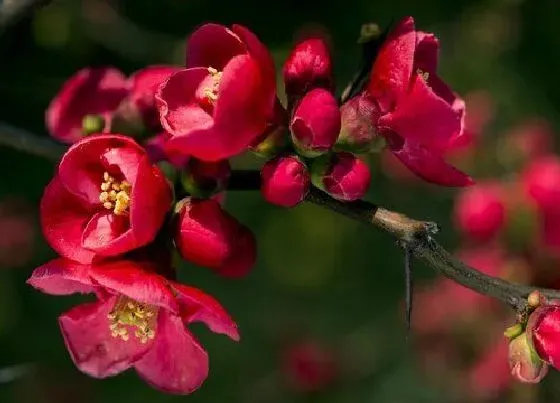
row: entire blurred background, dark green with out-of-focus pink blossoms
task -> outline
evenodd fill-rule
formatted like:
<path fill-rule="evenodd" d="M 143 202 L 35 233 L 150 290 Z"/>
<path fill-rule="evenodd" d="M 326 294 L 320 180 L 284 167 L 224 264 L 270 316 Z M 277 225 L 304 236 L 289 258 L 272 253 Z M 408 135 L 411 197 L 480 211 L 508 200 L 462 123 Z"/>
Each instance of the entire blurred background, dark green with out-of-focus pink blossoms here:
<path fill-rule="evenodd" d="M 386 27 L 406 15 L 440 37 L 440 75 L 465 96 L 469 110 L 469 141 L 449 158 L 481 185 L 469 192 L 424 185 L 389 155 L 372 155 L 368 199 L 437 221 L 442 243 L 480 270 L 560 284 L 560 220 L 531 201 L 526 174 L 536 170 L 531 178 L 538 179 L 549 172 L 534 166 L 543 158 L 558 163 L 547 157 L 560 123 L 556 0 L 55 0 L 0 32 L 0 121 L 47 136 L 44 111 L 76 70 L 180 65 L 186 35 L 207 21 L 247 25 L 278 67 L 299 33 L 323 32 L 342 89 L 359 61 L 361 24 Z M 258 163 L 249 156 L 235 166 Z M 394 241 L 313 205 L 267 205 L 258 192 L 230 193 L 226 202 L 259 241 L 258 264 L 248 277 L 232 281 L 179 267 L 180 278 L 214 295 L 241 329 L 236 344 L 195 328 L 211 360 L 203 387 L 174 397 L 132 371 L 90 379 L 74 368 L 56 320 L 82 298 L 50 297 L 25 284 L 54 256 L 38 227 L 53 168 L 0 148 L 2 403 L 529 403 L 560 396 L 557 373 L 538 386 L 510 379 L 502 332 L 512 317 L 504 307 L 417 264 L 407 341 L 403 257 Z M 558 177 L 551 180 L 560 186 Z"/>

